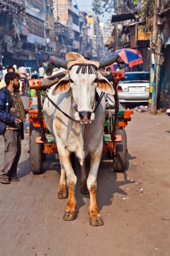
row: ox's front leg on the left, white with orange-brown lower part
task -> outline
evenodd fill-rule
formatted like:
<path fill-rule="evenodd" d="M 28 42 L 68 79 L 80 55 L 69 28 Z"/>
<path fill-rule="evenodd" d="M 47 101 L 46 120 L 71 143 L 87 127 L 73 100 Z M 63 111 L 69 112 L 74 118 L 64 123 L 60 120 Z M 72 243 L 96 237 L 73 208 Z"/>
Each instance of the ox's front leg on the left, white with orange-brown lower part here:
<path fill-rule="evenodd" d="M 75 200 L 75 185 L 77 183 L 77 177 L 75 176 L 75 172 L 71 165 L 70 153 L 63 149 L 59 152 L 60 161 L 65 168 L 66 176 L 67 176 L 67 186 L 69 188 L 69 197 L 67 201 L 67 207 L 65 210 L 65 214 L 63 216 L 63 220 L 75 220 L 77 217 L 75 212 L 76 200 Z"/>

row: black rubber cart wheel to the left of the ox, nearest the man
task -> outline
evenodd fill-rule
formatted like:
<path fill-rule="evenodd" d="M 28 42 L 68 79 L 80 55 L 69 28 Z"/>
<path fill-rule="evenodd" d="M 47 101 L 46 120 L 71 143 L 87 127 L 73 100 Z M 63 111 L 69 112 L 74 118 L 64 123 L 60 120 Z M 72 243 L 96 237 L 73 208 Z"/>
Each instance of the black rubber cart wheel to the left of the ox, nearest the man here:
<path fill-rule="evenodd" d="M 35 142 L 39 136 L 40 132 L 34 130 L 30 137 L 30 167 L 34 174 L 41 174 L 43 166 L 42 144 Z"/>

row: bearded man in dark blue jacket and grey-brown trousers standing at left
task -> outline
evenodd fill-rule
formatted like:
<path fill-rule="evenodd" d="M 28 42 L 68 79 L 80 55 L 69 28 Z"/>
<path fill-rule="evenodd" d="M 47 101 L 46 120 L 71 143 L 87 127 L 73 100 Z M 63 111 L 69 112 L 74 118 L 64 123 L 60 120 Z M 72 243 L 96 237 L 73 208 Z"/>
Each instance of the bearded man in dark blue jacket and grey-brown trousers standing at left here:
<path fill-rule="evenodd" d="M 28 109 L 24 110 L 19 96 L 19 75 L 7 73 L 5 86 L 0 90 L 0 135 L 5 139 L 4 167 L 0 173 L 0 182 L 9 184 L 19 181 L 17 178 L 17 164 L 21 155 L 22 123 Z"/>

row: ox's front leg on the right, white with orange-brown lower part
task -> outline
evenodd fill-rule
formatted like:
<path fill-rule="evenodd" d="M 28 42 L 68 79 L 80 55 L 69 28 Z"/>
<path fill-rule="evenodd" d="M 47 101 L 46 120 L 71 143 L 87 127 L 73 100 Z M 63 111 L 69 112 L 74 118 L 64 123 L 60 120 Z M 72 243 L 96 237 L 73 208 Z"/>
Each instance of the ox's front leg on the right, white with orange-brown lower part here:
<path fill-rule="evenodd" d="M 97 189 L 97 172 L 99 168 L 99 162 L 101 160 L 102 152 L 97 151 L 91 154 L 91 167 L 89 177 L 87 179 L 87 188 L 90 193 L 90 205 L 89 205 L 89 224 L 91 226 L 102 226 L 103 220 L 99 214 L 99 208 L 96 202 L 96 189 Z"/>

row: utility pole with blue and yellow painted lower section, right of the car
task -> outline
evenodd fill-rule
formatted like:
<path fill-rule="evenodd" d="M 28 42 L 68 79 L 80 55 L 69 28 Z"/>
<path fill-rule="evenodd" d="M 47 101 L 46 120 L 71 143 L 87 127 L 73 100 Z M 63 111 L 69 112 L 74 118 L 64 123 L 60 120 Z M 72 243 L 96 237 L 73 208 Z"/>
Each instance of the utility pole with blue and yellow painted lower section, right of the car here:
<path fill-rule="evenodd" d="M 162 3 L 163 4 L 163 3 Z M 159 79 L 163 56 L 161 54 L 161 24 L 159 23 L 159 13 L 161 11 L 161 1 L 155 0 L 153 11 L 153 35 L 151 42 L 151 79 L 149 87 L 148 106 L 152 114 L 157 113 L 157 99 L 159 94 Z"/>

